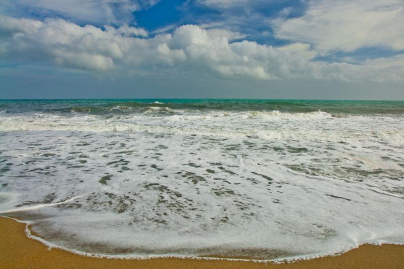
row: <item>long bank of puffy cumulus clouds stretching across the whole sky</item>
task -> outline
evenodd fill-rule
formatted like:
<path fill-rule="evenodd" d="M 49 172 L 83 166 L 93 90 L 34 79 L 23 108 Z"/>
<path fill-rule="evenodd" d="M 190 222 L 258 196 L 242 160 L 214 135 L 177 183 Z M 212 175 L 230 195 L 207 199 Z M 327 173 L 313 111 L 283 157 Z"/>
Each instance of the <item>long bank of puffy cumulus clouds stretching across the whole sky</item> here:
<path fill-rule="evenodd" d="M 94 72 L 170 69 L 208 72 L 227 78 L 402 80 L 402 56 L 361 65 L 313 61 L 307 43 L 282 47 L 254 41 L 231 42 L 228 33 L 196 25 L 148 37 L 141 28 L 79 26 L 62 19 L 44 21 L 0 17 L 0 58 L 45 61 Z M 393 70 L 393 72 L 392 72 Z"/>

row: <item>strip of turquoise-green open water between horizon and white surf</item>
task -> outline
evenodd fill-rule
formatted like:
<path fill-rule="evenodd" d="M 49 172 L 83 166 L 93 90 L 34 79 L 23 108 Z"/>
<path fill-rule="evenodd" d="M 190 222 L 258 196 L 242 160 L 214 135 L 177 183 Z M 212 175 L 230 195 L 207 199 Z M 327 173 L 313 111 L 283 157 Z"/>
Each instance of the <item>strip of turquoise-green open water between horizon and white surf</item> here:
<path fill-rule="evenodd" d="M 401 114 L 404 101 L 271 100 L 271 99 L 35 99 L 0 100 L 3 113 L 136 113 L 143 107 L 170 109 L 313 112 L 343 114 Z M 127 110 L 114 107 L 126 107 Z"/>

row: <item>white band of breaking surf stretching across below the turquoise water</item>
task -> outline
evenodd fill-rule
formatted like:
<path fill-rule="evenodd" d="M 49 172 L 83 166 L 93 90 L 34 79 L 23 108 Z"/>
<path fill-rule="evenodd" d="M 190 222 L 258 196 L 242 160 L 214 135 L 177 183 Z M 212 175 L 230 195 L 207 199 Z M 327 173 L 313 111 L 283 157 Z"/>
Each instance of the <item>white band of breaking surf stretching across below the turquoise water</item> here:
<path fill-rule="evenodd" d="M 149 107 L 151 111 L 162 107 Z M 169 112 L 170 109 L 166 108 Z M 387 117 L 332 118 L 330 114 L 259 113 L 262 117 L 245 118 L 244 114 L 211 113 L 149 117 L 131 115 L 65 117 L 35 114 L 33 116 L 0 117 L 0 131 L 130 131 L 172 134 L 196 134 L 223 137 L 256 137 L 266 140 L 297 139 L 302 141 L 380 142 L 401 145 L 404 130 L 400 119 Z M 270 115 L 270 116 L 268 116 Z M 276 123 L 267 122 L 268 117 Z M 284 119 L 284 120 L 282 120 Z M 311 123 L 306 121 L 312 120 Z M 304 125 L 301 125 L 304 121 Z M 388 125 L 384 128 L 384 125 Z M 341 128 L 342 127 L 342 128 Z M 381 128 L 383 127 L 383 128 Z"/>

